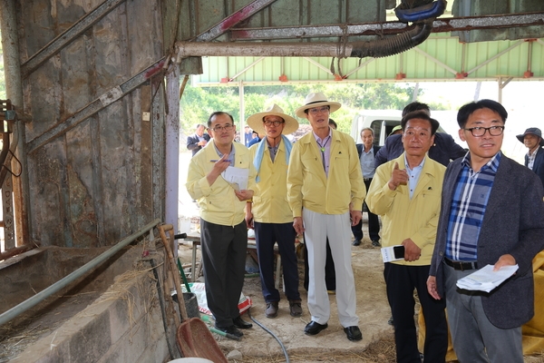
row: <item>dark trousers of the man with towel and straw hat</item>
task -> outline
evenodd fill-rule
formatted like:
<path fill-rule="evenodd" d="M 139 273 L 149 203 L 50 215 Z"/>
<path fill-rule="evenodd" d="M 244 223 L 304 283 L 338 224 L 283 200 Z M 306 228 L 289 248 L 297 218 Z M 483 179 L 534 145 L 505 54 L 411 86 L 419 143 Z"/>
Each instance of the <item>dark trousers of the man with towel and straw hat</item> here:
<path fill-rule="evenodd" d="M 274 244 L 276 242 L 283 265 L 287 299 L 299 300 L 295 251 L 296 231 L 293 228 L 293 223 L 260 223 L 256 221 L 254 225 L 261 288 L 265 301 L 274 302 L 280 299 L 279 291 L 274 286 Z"/>

